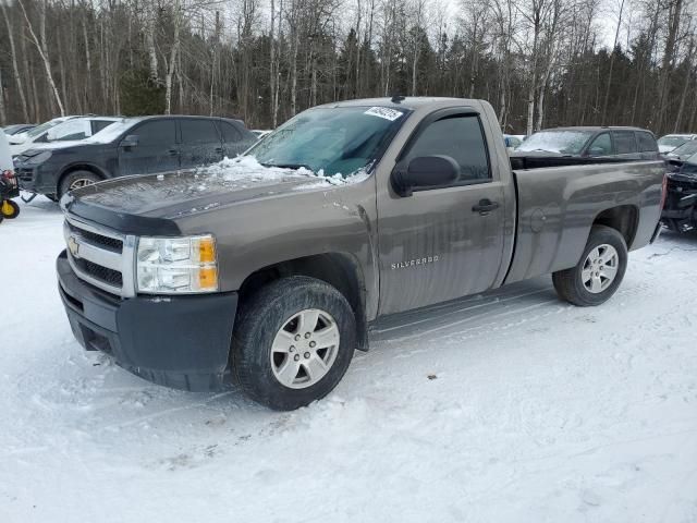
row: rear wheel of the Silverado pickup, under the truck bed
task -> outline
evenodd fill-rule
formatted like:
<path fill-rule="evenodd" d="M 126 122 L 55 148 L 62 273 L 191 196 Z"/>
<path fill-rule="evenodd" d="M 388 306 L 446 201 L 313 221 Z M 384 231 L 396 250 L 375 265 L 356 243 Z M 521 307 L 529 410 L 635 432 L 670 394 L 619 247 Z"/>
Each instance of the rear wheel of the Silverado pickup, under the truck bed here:
<path fill-rule="evenodd" d="M 552 282 L 559 297 L 589 307 L 607 302 L 615 293 L 626 269 L 624 236 L 611 227 L 594 226 L 578 265 L 554 272 Z"/>

